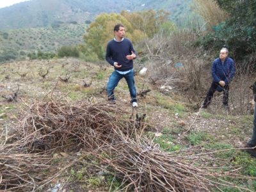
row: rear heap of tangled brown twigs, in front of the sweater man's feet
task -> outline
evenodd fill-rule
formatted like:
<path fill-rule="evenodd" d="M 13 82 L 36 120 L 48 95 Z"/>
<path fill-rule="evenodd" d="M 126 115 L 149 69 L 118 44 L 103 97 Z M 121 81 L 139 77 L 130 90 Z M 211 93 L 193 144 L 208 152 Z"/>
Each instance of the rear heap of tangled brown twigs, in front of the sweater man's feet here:
<path fill-rule="evenodd" d="M 132 134 L 134 120 L 124 120 L 120 106 L 88 102 L 36 102 L 22 118 L 12 136 L 12 148 L 40 152 L 76 144 L 95 149 L 116 140 L 115 129 Z"/>

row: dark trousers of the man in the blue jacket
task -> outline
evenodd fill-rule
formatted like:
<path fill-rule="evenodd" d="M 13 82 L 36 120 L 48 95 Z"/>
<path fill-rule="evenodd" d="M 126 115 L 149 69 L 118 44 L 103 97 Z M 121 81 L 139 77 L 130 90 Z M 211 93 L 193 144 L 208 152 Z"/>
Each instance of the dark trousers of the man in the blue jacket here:
<path fill-rule="evenodd" d="M 229 91 L 229 84 L 225 84 L 225 86 L 221 86 L 219 83 L 216 83 L 212 81 L 211 87 L 209 91 L 207 92 L 207 95 L 205 97 L 203 106 L 207 107 L 212 99 L 212 96 L 214 92 L 216 92 L 217 88 L 221 91 L 223 91 L 223 105 L 227 106 L 228 105 L 228 91 Z"/>

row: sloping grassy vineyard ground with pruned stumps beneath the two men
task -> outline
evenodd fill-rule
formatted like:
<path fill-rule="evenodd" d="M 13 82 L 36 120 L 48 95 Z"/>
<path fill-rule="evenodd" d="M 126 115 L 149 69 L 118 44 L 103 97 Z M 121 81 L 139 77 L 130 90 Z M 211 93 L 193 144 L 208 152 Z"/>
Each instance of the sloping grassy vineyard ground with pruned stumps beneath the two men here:
<path fill-rule="evenodd" d="M 45 74 L 47 70 L 49 73 L 45 78 L 39 75 L 40 72 L 41 74 Z M 48 61 L 20 61 L 1 65 L 1 96 L 8 97 L 8 95 L 17 92 L 17 98 L 13 102 L 8 102 L 3 97 L 0 98 L 0 143 L 3 143 L 1 150 L 3 153 L 8 150 L 8 154 L 4 153 L 4 155 L 0 157 L 0 159 L 4 159 L 6 164 L 6 166 L 1 166 L 0 168 L 1 173 L 3 173 L 3 183 L 0 183 L 0 189 L 3 189 L 5 187 L 4 183 L 8 182 L 6 178 L 12 177 L 13 180 L 19 180 L 17 175 L 20 174 L 20 170 L 18 170 L 18 168 L 26 168 L 29 164 L 29 166 L 33 166 L 38 172 L 35 172 L 34 169 L 31 170 L 31 172 L 29 172 L 29 169 L 23 169 L 22 173 L 31 174 L 31 177 L 26 177 L 26 174 L 20 175 L 20 178 L 27 179 L 22 180 L 22 182 L 28 182 L 26 186 L 17 186 L 22 189 L 24 189 L 24 187 L 29 188 L 31 183 L 36 182 L 36 184 L 40 184 L 43 191 L 54 188 L 67 191 L 109 191 L 109 189 L 115 191 L 118 189 L 118 186 L 122 184 L 122 179 L 127 177 L 132 180 L 129 175 L 126 175 L 126 177 L 122 174 L 119 175 L 122 171 L 120 170 L 121 166 L 128 164 L 129 166 L 125 171 L 136 172 L 134 177 L 139 175 L 139 179 L 145 179 L 146 181 L 143 180 L 143 183 L 140 184 L 146 184 L 146 186 L 148 184 L 147 179 L 150 179 L 150 177 L 156 178 L 156 175 L 158 175 L 157 178 L 161 178 L 165 175 L 166 178 L 168 177 L 168 179 L 172 181 L 173 179 L 170 178 L 172 177 L 171 173 L 175 172 L 174 174 L 177 176 L 186 172 L 179 180 L 187 179 L 189 176 L 188 180 L 184 182 L 184 186 L 188 189 L 191 178 L 193 177 L 191 174 L 193 170 L 189 169 L 196 168 L 195 174 L 202 174 L 200 175 L 200 184 L 204 179 L 211 180 L 212 177 L 216 179 L 213 180 L 216 182 L 214 185 L 209 184 L 209 180 L 207 180 L 206 183 L 208 184 L 205 188 L 209 189 L 209 191 L 219 191 L 219 189 L 221 191 L 236 191 L 238 190 L 237 188 L 240 188 L 242 191 L 245 190 L 245 188 L 255 191 L 255 161 L 252 157 L 248 156 L 248 154 L 236 149 L 243 147 L 244 142 L 250 137 L 252 131 L 252 116 L 239 115 L 236 113 L 236 109 L 239 107 L 238 102 L 232 102 L 230 112 L 225 111 L 219 106 L 221 104 L 221 97 L 217 94 L 209 109 L 198 109 L 196 108 L 196 103 L 191 103 L 186 99 L 186 94 L 188 93 L 180 92 L 180 90 L 176 90 L 175 87 L 163 88 L 160 83 L 154 85 L 150 84 L 147 76 L 135 76 L 139 108 L 131 108 L 129 104 L 129 90 L 124 79 L 120 81 L 120 84 L 118 84 L 116 88 L 117 104 L 109 106 L 106 101 L 104 88 L 112 70 L 113 68 L 106 65 L 106 63 L 87 63 L 72 58 Z M 58 81 L 60 77 L 61 79 L 67 79 L 67 82 Z M 239 79 L 237 78 L 234 84 L 238 84 L 238 81 Z M 147 89 L 151 91 L 143 97 L 140 96 L 140 93 Z M 232 87 L 232 92 L 230 93 L 232 100 L 234 93 L 238 90 L 239 87 Z M 49 102 L 47 100 L 49 100 Z M 61 102 L 61 100 L 63 100 L 63 102 Z M 83 106 L 84 108 L 67 107 L 79 104 L 79 101 L 82 101 L 83 104 L 88 102 L 88 105 Z M 52 139 L 54 132 L 58 131 L 59 128 L 55 125 L 52 125 L 52 127 L 47 125 L 51 120 L 51 116 L 43 118 L 47 113 L 57 113 L 58 115 L 61 112 L 61 114 L 65 114 L 62 110 L 67 110 L 67 118 L 70 118 L 69 122 L 72 122 L 73 118 L 79 118 L 79 115 L 76 116 L 77 109 L 84 111 L 89 108 L 97 112 L 93 113 L 93 116 L 90 118 L 90 120 L 94 121 L 99 120 L 98 123 L 93 124 L 94 127 L 103 124 L 103 127 L 100 128 L 102 128 L 103 131 L 106 129 L 109 130 L 109 127 L 111 127 L 109 125 L 115 127 L 116 124 L 118 124 L 121 126 L 120 121 L 124 120 L 125 125 L 127 125 L 127 129 L 125 128 L 126 131 L 129 125 L 131 125 L 130 122 L 133 122 L 132 124 L 137 127 L 132 133 L 132 135 L 138 136 L 136 141 L 140 141 L 142 136 L 150 138 L 150 144 L 146 146 L 145 142 L 147 141 L 141 140 L 140 145 L 137 145 L 135 141 L 128 143 L 129 147 L 126 147 L 127 143 L 125 143 L 128 141 L 131 142 L 127 132 L 125 132 L 124 138 L 122 138 L 124 139 L 123 142 L 115 143 L 114 138 L 104 140 L 105 143 L 110 140 L 113 149 L 115 149 L 115 145 L 120 147 L 120 151 L 116 151 L 117 154 L 124 150 L 123 147 L 125 147 L 125 150 L 131 150 L 130 152 L 134 152 L 132 147 L 135 147 L 138 154 L 134 156 L 134 163 L 126 162 L 118 164 L 115 170 L 114 163 L 122 162 L 122 159 L 126 159 L 127 161 L 127 157 L 131 157 L 132 161 L 133 153 L 126 154 L 122 156 L 122 158 L 119 157 L 120 159 L 118 159 L 118 161 L 116 160 L 118 156 L 115 155 L 113 159 L 108 159 L 112 156 L 111 153 L 108 154 L 108 152 L 111 151 L 109 145 L 105 152 L 101 151 L 104 147 L 99 147 L 97 150 L 93 150 L 92 154 L 89 153 L 88 150 L 92 146 L 85 145 L 89 140 L 85 140 L 83 136 L 85 137 L 86 134 L 93 134 L 94 136 L 96 131 L 99 130 L 95 129 L 95 132 L 86 131 L 89 130 L 90 127 L 89 125 L 85 128 L 80 126 L 83 119 L 81 119 L 81 122 L 74 122 L 74 126 L 79 125 L 79 129 L 75 132 L 72 132 L 71 128 L 65 130 L 63 127 L 60 127 L 62 133 L 58 132 L 58 134 L 63 134 L 63 137 L 61 137 L 60 140 Z M 33 109 L 35 109 L 35 111 L 33 111 Z M 51 111 L 50 109 L 54 110 Z M 99 111 L 97 111 L 98 109 Z M 105 109 L 110 111 L 105 112 Z M 30 112 L 28 113 L 28 111 Z M 120 111 L 124 113 L 120 114 Z M 33 140 L 33 137 L 29 137 L 29 134 L 26 139 L 23 140 L 22 138 L 22 140 L 19 141 L 21 143 L 12 143 L 13 140 L 15 141 L 15 138 L 8 138 L 8 134 L 14 133 L 17 134 L 16 136 L 19 136 L 18 133 L 26 133 L 28 130 L 25 129 L 26 131 L 24 131 L 24 127 L 26 128 L 28 124 L 33 125 L 31 119 L 33 119 L 35 114 L 33 115 L 32 112 L 38 113 L 38 117 L 35 118 L 35 120 L 44 120 L 46 127 L 42 129 L 40 127 L 44 126 L 43 124 L 34 124 L 34 136 L 37 138 L 34 138 L 35 143 L 26 143 L 29 140 Z M 29 117 L 30 113 L 32 115 L 31 117 Z M 81 113 L 81 115 L 82 114 L 83 113 Z M 86 114 L 87 113 L 84 113 L 85 116 Z M 140 122 L 136 114 L 138 114 L 139 117 L 145 114 L 146 119 Z M 24 118 L 28 118 L 27 124 L 23 124 Z M 106 121 L 105 118 L 112 118 L 111 122 Z M 53 120 L 59 120 L 58 123 L 61 125 L 68 125 L 67 123 L 65 124 L 67 120 L 63 118 L 63 116 L 58 116 L 58 118 L 54 117 Z M 106 126 L 106 124 L 108 126 Z M 138 124 L 140 124 L 140 127 L 138 127 Z M 16 127 L 19 131 L 12 132 L 12 127 Z M 50 128 L 55 129 L 55 131 L 51 134 L 47 134 Z M 118 127 L 116 127 L 116 130 L 117 128 Z M 76 134 L 81 134 L 79 131 L 83 130 L 86 134 L 79 137 L 79 140 L 81 140 L 79 143 L 76 139 Z M 36 134 L 36 132 L 38 134 Z M 45 135 L 43 135 L 44 132 L 46 132 Z M 65 133 L 68 134 L 69 132 L 71 135 L 67 138 L 64 137 Z M 31 132 L 31 134 L 34 133 Z M 108 135 L 109 132 L 104 131 L 104 134 Z M 111 139 L 113 139 L 113 141 Z M 40 140 L 44 142 L 52 141 L 52 148 L 44 142 L 40 143 Z M 56 147 L 54 145 L 54 143 L 61 143 L 61 141 L 64 142 L 61 146 Z M 78 143 L 74 143 L 74 141 Z M 102 140 L 99 140 L 99 142 L 100 141 Z M 33 153 L 33 151 L 29 153 L 29 146 L 31 145 L 33 150 L 36 150 L 38 147 L 37 150 L 43 150 L 43 153 L 38 154 Z M 26 151 L 28 156 L 24 156 L 24 154 L 19 154 L 19 158 L 16 155 L 10 156 L 12 152 L 17 153 L 19 150 L 22 152 Z M 99 154 L 97 154 L 98 150 Z M 41 156 L 41 158 L 38 156 Z M 157 159 L 159 156 L 161 157 L 160 160 Z M 25 158 L 24 162 L 22 162 L 23 157 Z M 170 157 L 168 161 L 165 159 L 167 157 Z M 51 159 L 49 160 L 47 158 Z M 144 161 L 140 160 L 142 158 Z M 148 158 L 151 158 L 149 159 L 150 161 Z M 40 166 L 40 163 L 45 163 L 45 159 L 48 163 L 47 166 L 38 168 L 37 166 Z M 26 164 L 27 161 L 29 162 L 28 164 Z M 34 161 L 36 161 L 36 163 L 31 163 Z M 171 164 L 171 166 L 168 167 L 170 170 L 168 170 L 168 172 L 164 171 L 164 168 L 166 168 L 170 161 L 171 163 L 177 163 L 176 166 Z M 142 165 L 140 165 L 141 162 L 143 162 Z M 8 166 L 9 163 L 12 163 L 12 172 Z M 22 164 L 22 166 L 17 166 L 17 163 L 19 165 Z M 161 163 L 163 163 L 163 166 L 160 167 L 160 170 L 162 170 L 163 173 L 159 175 L 154 171 Z M 155 166 L 152 166 L 152 164 Z M 186 166 L 186 164 L 188 166 Z M 139 166 L 138 170 L 136 169 L 137 166 Z M 177 166 L 179 167 L 177 168 Z M 113 168 L 112 172 L 107 171 L 109 167 Z M 132 168 L 132 170 L 129 170 L 129 168 Z M 147 174 L 146 170 L 148 168 L 152 168 L 152 173 Z M 175 168 L 177 168 L 176 171 L 173 170 Z M 204 170 L 204 168 L 209 168 L 209 172 L 201 172 L 201 169 Z M 10 173 L 16 173 L 17 175 Z M 40 177 L 36 176 L 36 174 L 40 175 Z M 207 176 L 205 176 L 205 174 L 207 174 Z M 231 178 L 230 174 L 232 175 Z M 32 177 L 34 176 L 36 179 L 33 180 Z M 44 182 L 39 182 L 38 178 L 41 178 Z M 227 182 L 222 182 L 220 178 L 227 180 Z M 123 183 L 122 188 L 129 182 L 134 184 L 134 186 L 136 185 L 136 182 L 132 182 L 128 179 L 125 180 L 125 184 Z M 31 180 L 31 183 L 29 183 L 29 180 Z M 198 182 L 197 175 L 195 182 Z M 198 188 L 195 182 L 193 182 L 192 186 Z M 150 184 L 154 183 L 157 183 L 157 180 L 150 182 Z M 163 185 L 165 180 L 160 180 L 159 183 L 161 184 L 160 186 L 166 186 Z M 220 183 L 224 184 L 224 186 Z M 38 185 L 36 184 L 35 186 L 32 185 L 30 189 L 37 188 Z M 129 188 L 127 191 L 134 190 Z"/>

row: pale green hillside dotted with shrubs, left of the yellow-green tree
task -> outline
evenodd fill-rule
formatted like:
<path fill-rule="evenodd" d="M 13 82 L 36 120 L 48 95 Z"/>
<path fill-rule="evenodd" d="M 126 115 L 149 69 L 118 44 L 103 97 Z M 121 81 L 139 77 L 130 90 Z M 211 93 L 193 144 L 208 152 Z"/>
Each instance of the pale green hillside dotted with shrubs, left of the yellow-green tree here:
<path fill-rule="evenodd" d="M 0 62 L 26 58 L 35 51 L 56 52 L 62 45 L 83 44 L 86 24 L 0 31 Z"/>

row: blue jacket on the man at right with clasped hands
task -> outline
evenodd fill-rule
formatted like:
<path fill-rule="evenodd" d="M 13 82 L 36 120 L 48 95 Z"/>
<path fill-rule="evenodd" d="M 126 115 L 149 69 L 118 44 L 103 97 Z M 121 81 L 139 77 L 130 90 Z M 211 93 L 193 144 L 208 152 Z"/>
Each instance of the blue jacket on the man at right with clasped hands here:
<path fill-rule="evenodd" d="M 220 58 L 217 58 L 212 62 L 211 72 L 214 82 L 225 81 L 225 84 L 230 83 L 236 72 L 234 60 L 227 57 L 222 64 Z"/>

